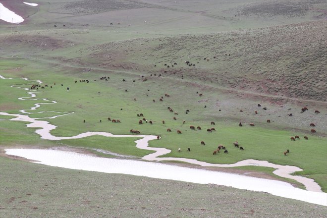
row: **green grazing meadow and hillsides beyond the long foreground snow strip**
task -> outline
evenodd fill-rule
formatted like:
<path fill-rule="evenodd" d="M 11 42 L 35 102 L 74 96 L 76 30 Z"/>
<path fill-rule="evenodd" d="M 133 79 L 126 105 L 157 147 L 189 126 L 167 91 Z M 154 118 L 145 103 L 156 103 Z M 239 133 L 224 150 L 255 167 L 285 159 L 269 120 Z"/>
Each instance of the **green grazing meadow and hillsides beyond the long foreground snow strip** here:
<path fill-rule="evenodd" d="M 326 192 L 326 2 L 294 0 L 292 7 L 284 0 L 35 3 L 39 6 L 3 2 L 17 8 L 26 21 L 12 27 L 0 20 L 0 75 L 15 77 L 0 79 L 1 112 L 19 113 L 45 103 L 42 99 L 46 98 L 57 103 L 41 105 L 30 117 L 58 114 L 51 111 L 73 112 L 42 118 L 57 126 L 51 132 L 55 136 L 87 131 L 130 134 L 136 129 L 141 134 L 159 135 L 161 139 L 151 141 L 150 146 L 170 149 L 165 157 L 209 163 L 256 159 L 296 165 L 303 171 L 295 174 L 315 179 Z M 285 8 L 292 10 L 286 12 Z M 108 81 L 101 79 L 104 76 Z M 21 78 L 48 85 L 35 90 L 41 100 L 18 100 L 30 95 L 15 87 L 37 84 Z M 178 114 L 169 112 L 168 107 Z M 301 112 L 303 107 L 309 110 Z M 40 111 L 46 112 L 37 113 Z M 143 118 L 137 116 L 140 113 L 148 123 L 138 123 Z M 112 123 L 108 117 L 121 123 Z M 151 153 L 135 148 L 137 137 L 43 140 L 34 129 L 25 128 L 25 123 L 10 118 L 0 116 L 2 150 L 78 147 L 104 157 L 112 156 L 94 149 L 132 158 Z M 310 123 L 316 124 L 317 133 L 311 133 Z M 201 126 L 201 130 L 191 130 L 190 125 Z M 212 127 L 216 131 L 207 132 Z M 177 129 L 182 134 L 177 134 Z M 300 140 L 291 141 L 295 135 Z M 235 141 L 244 151 L 233 147 Z M 228 154 L 213 155 L 220 144 Z M 290 153 L 284 156 L 287 149 Z M 273 175 L 271 168 L 238 169 L 266 173 L 302 187 Z"/>

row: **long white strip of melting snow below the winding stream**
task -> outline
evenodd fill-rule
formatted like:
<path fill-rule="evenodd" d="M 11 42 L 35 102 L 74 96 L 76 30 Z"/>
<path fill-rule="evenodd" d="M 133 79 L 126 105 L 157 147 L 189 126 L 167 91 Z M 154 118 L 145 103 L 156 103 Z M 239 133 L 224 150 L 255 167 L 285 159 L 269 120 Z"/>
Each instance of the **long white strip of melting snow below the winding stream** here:
<path fill-rule="evenodd" d="M 93 157 L 74 152 L 44 149 L 6 149 L 6 154 L 35 160 L 45 165 L 107 173 L 122 173 L 200 184 L 213 183 L 327 206 L 327 193 L 306 191 L 263 178 L 173 166 L 163 163 Z"/>

